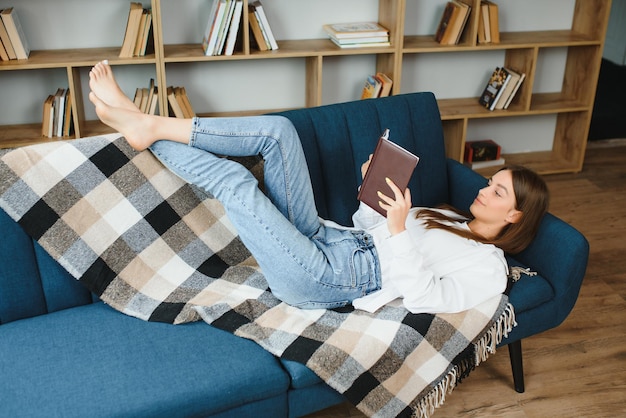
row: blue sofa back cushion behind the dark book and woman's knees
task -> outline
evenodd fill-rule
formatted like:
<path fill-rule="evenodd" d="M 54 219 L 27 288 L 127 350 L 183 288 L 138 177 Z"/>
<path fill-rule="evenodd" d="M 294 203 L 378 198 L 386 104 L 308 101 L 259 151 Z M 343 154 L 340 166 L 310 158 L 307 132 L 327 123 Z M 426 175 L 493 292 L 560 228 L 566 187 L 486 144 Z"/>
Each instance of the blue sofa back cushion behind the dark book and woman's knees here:
<path fill-rule="evenodd" d="M 432 93 L 401 94 L 278 113 L 296 127 L 319 215 L 351 225 L 361 164 L 380 134 L 420 157 L 409 188 L 413 205 L 449 203 L 443 129 Z"/>

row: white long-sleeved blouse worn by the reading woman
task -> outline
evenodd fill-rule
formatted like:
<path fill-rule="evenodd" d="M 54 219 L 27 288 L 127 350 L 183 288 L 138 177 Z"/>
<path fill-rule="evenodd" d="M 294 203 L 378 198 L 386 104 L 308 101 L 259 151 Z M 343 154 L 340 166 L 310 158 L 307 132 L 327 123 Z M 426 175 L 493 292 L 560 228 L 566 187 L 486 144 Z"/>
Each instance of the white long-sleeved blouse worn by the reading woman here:
<path fill-rule="evenodd" d="M 411 209 L 406 231 L 394 236 L 386 218 L 367 205 L 353 215 L 355 228 L 372 235 L 382 272 L 382 288 L 354 300 L 355 308 L 374 312 L 399 298 L 413 313 L 453 313 L 504 292 L 508 266 L 500 248 L 426 229 L 417 210 Z M 469 229 L 464 219 L 457 226 Z"/>

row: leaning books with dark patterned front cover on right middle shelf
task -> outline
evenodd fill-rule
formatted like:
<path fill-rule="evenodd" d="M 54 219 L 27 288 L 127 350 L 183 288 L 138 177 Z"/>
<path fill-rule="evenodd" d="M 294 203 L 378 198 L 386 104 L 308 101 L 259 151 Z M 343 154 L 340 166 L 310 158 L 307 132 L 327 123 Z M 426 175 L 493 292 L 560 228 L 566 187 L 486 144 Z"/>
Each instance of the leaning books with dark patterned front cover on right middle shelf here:
<path fill-rule="evenodd" d="M 507 67 L 496 67 L 478 98 L 478 103 L 489 110 L 508 109 L 525 78 L 526 73 L 518 73 Z"/>

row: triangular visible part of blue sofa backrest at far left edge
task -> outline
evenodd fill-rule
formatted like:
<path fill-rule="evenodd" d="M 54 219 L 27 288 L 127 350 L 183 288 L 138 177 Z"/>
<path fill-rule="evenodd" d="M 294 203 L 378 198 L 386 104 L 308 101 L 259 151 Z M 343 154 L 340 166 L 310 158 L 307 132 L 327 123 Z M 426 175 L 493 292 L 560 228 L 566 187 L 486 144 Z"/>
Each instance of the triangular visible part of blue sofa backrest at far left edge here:
<path fill-rule="evenodd" d="M 0 231 L 0 324 L 93 301 L 2 209 Z"/>

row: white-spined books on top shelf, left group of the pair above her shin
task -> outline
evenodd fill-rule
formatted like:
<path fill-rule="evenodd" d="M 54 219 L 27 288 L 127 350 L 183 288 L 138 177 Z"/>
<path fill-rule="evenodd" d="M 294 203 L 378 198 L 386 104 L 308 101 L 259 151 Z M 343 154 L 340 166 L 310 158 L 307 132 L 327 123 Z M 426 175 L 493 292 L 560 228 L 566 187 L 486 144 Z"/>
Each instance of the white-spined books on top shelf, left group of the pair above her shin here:
<path fill-rule="evenodd" d="M 242 15 L 242 0 L 213 1 L 202 37 L 202 49 L 205 55 L 233 54 Z"/>

